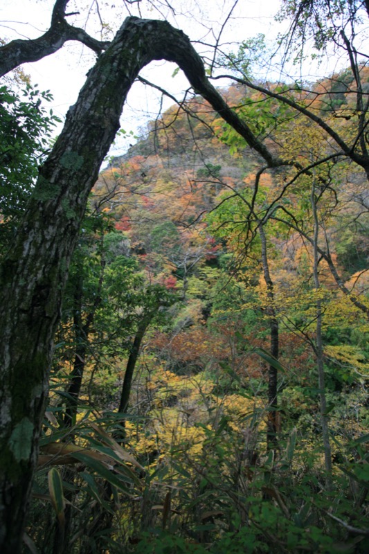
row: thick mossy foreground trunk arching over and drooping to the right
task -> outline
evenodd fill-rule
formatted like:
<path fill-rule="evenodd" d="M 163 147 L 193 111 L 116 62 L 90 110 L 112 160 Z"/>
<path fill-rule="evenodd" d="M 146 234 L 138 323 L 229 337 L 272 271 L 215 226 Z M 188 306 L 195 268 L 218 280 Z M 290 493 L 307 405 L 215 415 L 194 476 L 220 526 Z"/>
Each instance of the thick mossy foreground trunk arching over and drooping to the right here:
<path fill-rule="evenodd" d="M 64 2 L 64 5 L 66 3 Z M 4 55 L 4 53 L 3 53 Z M 64 129 L 39 169 L 15 242 L 0 268 L 0 551 L 19 552 L 48 391 L 53 336 L 71 254 L 98 170 L 139 71 L 165 59 L 259 152 L 277 162 L 208 82 L 181 30 L 129 17 L 89 71 Z"/>

